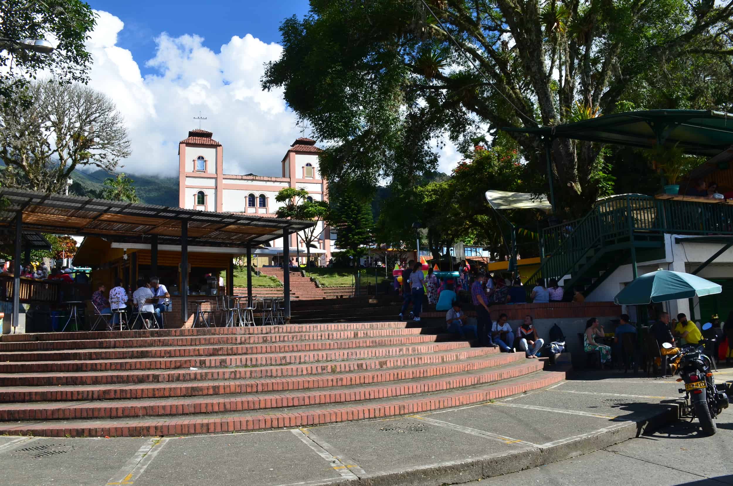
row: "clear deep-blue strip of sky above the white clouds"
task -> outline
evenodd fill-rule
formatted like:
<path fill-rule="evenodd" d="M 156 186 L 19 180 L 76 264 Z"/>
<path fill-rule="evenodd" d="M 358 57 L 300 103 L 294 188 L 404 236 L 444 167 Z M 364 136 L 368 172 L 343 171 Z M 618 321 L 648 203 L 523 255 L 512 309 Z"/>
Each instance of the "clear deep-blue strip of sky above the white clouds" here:
<path fill-rule="evenodd" d="M 153 72 L 144 61 L 155 56 L 155 37 L 196 34 L 214 52 L 232 35 L 251 34 L 264 43 L 279 43 L 278 28 L 290 15 L 308 11 L 308 0 L 87 0 L 95 10 L 105 10 L 125 22 L 117 46 L 132 52 L 141 73 Z M 142 62 L 141 62 L 142 61 Z"/>

